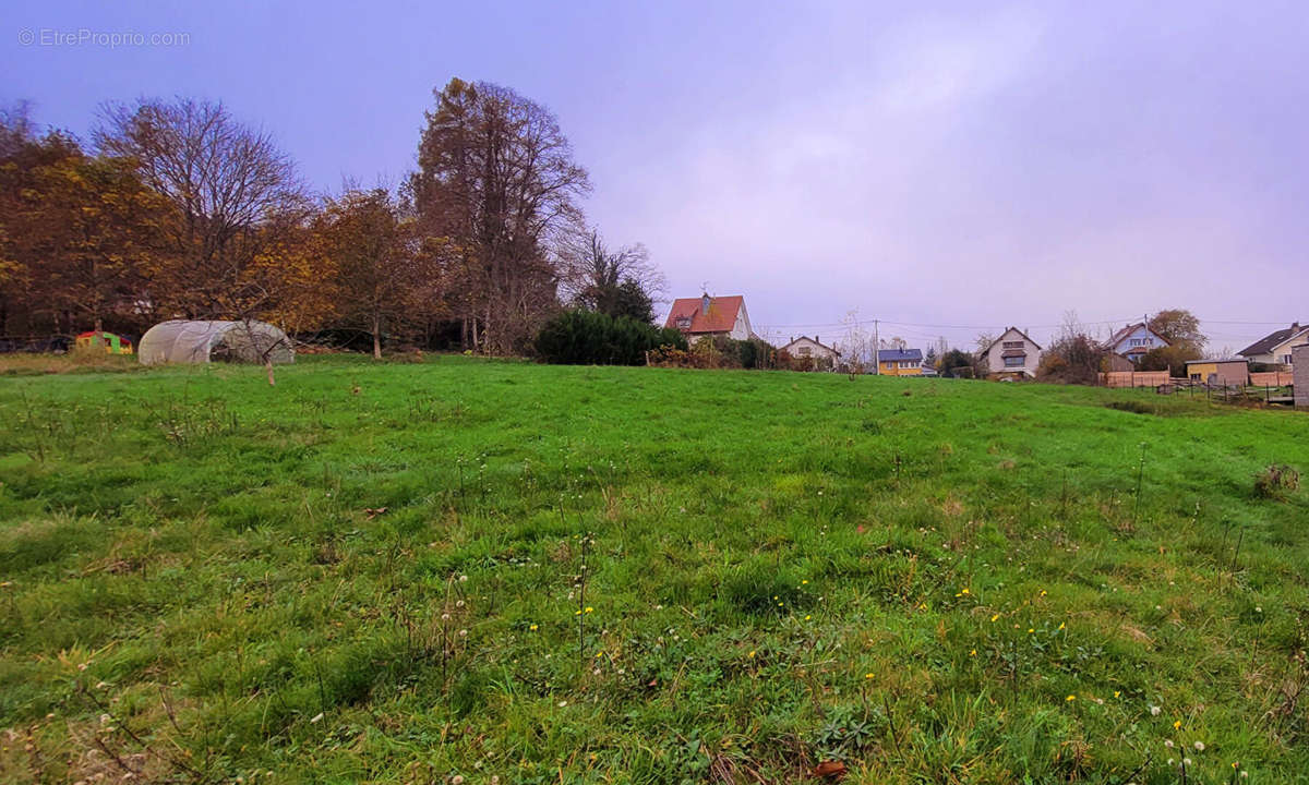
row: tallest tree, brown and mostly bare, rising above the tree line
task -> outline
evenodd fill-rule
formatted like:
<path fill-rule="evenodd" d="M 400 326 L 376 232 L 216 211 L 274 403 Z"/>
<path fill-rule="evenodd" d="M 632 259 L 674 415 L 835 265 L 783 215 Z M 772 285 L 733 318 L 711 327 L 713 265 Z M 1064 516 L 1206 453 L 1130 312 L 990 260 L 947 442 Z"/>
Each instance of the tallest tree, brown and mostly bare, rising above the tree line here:
<path fill-rule="evenodd" d="M 586 170 L 554 114 L 508 88 L 450 80 L 418 152 L 408 196 L 445 238 L 450 305 L 469 345 L 524 351 L 558 307 L 559 249 L 581 222 Z"/>

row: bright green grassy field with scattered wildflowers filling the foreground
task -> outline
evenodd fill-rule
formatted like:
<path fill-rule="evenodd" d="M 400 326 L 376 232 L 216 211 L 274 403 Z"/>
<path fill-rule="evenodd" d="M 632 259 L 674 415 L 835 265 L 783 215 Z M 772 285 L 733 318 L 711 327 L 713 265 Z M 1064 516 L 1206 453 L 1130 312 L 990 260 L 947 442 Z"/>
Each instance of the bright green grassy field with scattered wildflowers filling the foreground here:
<path fill-rule="evenodd" d="M 113 370 L 0 378 L 5 782 L 1309 782 L 1302 413 Z"/>

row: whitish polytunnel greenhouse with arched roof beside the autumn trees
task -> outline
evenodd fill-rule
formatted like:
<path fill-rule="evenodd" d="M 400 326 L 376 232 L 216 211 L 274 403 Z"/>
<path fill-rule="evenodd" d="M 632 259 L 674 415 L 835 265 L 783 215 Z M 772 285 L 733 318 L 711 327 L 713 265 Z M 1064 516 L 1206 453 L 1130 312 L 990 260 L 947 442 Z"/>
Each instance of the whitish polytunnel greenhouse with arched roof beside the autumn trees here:
<path fill-rule="evenodd" d="M 291 339 L 266 322 L 160 322 L 141 336 L 136 356 L 157 362 L 295 362 Z"/>

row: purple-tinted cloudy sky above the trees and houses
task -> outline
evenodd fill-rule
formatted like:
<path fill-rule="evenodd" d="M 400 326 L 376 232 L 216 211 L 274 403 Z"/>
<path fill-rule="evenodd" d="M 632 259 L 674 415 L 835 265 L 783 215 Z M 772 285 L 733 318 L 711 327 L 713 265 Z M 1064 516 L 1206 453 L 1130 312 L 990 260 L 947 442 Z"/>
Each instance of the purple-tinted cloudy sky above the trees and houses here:
<path fill-rule="evenodd" d="M 1289 3 L 13 3 L 0 101 L 221 98 L 306 181 L 395 183 L 452 76 L 551 107 L 590 218 L 673 296 L 923 345 L 1190 307 L 1309 319 L 1309 8 Z M 43 46 L 51 31 L 181 46 Z M 26 43 L 31 35 L 35 42 Z"/>

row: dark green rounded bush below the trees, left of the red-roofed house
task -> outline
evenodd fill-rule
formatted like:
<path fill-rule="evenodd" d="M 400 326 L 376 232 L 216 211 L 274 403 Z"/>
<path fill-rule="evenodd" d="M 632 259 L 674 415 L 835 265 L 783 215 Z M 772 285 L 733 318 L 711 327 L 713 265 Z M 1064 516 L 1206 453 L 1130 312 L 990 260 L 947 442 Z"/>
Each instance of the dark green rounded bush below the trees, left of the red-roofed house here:
<path fill-rule="evenodd" d="M 645 352 L 686 349 L 686 338 L 628 317 L 571 310 L 546 323 L 537 335 L 537 353 L 558 365 L 643 365 Z"/>

